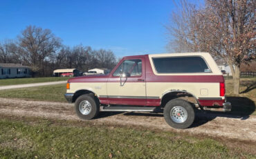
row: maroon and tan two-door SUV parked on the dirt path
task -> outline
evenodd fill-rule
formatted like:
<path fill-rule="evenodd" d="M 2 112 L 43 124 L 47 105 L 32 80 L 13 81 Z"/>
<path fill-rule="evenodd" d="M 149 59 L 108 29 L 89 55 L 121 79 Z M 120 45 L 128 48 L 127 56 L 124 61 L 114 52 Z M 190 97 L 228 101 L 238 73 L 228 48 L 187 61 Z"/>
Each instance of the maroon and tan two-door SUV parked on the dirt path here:
<path fill-rule="evenodd" d="M 230 111 L 221 71 L 209 53 L 123 57 L 109 75 L 68 79 L 66 100 L 78 117 L 99 111 L 163 111 L 171 127 L 194 122 L 194 109 Z"/>

